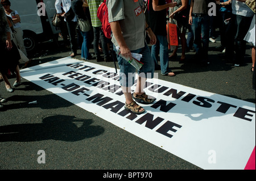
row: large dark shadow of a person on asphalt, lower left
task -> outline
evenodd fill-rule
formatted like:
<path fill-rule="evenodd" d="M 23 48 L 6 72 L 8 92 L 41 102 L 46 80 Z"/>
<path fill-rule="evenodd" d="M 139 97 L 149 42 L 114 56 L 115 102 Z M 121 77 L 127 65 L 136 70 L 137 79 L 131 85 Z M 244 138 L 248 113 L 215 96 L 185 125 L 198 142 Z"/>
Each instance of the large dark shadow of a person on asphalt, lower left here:
<path fill-rule="evenodd" d="M 80 141 L 85 138 L 99 136 L 105 129 L 91 125 L 91 119 L 77 119 L 75 116 L 51 115 L 42 123 L 13 124 L 0 127 L 0 142 L 18 141 Z"/>

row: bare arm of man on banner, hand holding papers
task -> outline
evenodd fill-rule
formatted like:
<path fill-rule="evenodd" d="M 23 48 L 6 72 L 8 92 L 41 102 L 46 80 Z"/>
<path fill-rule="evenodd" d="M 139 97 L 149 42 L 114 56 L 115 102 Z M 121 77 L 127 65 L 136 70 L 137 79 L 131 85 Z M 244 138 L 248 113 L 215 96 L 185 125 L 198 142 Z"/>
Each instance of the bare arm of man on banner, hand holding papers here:
<path fill-rule="evenodd" d="M 125 39 L 122 35 L 122 30 L 119 24 L 119 21 L 110 22 L 112 33 L 117 40 L 117 43 L 120 47 L 120 52 L 123 57 L 132 59 L 130 48 L 126 45 Z"/>

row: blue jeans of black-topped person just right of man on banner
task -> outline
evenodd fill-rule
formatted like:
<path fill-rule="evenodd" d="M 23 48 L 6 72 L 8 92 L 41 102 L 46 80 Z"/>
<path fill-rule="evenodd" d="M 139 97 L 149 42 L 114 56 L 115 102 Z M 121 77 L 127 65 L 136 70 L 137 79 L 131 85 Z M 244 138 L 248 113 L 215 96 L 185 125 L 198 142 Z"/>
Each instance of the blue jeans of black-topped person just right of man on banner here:
<path fill-rule="evenodd" d="M 169 58 L 168 58 L 168 41 L 166 36 L 156 35 L 156 44 L 152 45 L 151 56 L 155 62 L 155 65 L 158 65 L 158 54 L 160 56 L 160 67 L 161 74 L 166 75 L 171 72 L 169 69 Z"/>

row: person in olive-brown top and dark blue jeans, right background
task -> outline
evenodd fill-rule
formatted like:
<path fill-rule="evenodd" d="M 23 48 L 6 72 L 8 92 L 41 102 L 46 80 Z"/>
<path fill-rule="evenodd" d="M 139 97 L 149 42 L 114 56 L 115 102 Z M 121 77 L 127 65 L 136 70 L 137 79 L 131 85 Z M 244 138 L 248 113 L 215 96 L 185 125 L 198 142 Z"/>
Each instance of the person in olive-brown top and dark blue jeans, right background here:
<path fill-rule="evenodd" d="M 210 0 L 192 0 L 189 11 L 189 24 L 194 33 L 194 47 L 196 60 L 202 64 L 209 64 L 209 32 L 210 16 L 208 15 L 208 3 Z M 203 43 L 203 45 L 202 45 Z"/>

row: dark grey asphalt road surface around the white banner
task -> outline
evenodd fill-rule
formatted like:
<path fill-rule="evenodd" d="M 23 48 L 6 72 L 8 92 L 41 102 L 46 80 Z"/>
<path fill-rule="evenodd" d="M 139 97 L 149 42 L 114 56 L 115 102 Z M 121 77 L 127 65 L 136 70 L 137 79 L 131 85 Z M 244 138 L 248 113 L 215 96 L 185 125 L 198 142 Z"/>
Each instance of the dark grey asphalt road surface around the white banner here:
<path fill-rule="evenodd" d="M 192 59 L 195 53 L 188 52 L 185 62 L 170 60 L 175 77 L 162 76 L 156 70 L 159 79 L 255 103 L 250 45 L 240 67 L 221 60 L 223 53 L 215 50 L 217 45 L 220 41 L 209 43 L 209 65 L 197 64 Z M 51 41 L 41 43 L 31 55 L 30 66 L 69 54 L 69 49 Z M 177 58 L 180 55 L 179 47 Z M 80 54 L 76 58 L 80 59 Z M 89 62 L 114 67 L 113 62 Z M 14 81 L 10 77 L 11 84 Z M 8 100 L 0 111 L 1 170 L 201 170 L 24 78 L 12 93 L 1 82 L 0 94 Z M 86 132 L 77 133 L 79 124 Z M 40 150 L 46 154 L 46 163 L 38 163 Z"/>

